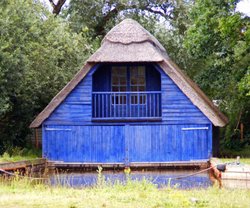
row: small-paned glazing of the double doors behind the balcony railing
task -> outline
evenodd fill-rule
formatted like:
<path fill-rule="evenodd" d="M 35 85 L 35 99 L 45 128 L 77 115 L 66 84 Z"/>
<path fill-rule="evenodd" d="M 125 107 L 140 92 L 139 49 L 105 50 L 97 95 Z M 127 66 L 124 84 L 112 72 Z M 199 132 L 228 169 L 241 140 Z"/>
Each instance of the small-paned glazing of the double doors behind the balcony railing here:
<path fill-rule="evenodd" d="M 146 103 L 146 95 L 140 93 L 146 91 L 145 66 L 113 66 L 111 74 L 112 104 L 127 104 L 127 91 L 138 92 L 131 93 L 130 104 Z"/>

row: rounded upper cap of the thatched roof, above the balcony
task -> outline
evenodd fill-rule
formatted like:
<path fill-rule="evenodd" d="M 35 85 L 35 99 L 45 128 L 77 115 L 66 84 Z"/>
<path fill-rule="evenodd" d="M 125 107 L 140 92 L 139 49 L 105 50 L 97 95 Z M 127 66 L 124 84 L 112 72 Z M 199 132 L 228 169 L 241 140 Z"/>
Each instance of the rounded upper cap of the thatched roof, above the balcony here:
<path fill-rule="evenodd" d="M 89 62 L 160 62 L 167 53 L 138 22 L 125 19 L 111 29 Z"/>

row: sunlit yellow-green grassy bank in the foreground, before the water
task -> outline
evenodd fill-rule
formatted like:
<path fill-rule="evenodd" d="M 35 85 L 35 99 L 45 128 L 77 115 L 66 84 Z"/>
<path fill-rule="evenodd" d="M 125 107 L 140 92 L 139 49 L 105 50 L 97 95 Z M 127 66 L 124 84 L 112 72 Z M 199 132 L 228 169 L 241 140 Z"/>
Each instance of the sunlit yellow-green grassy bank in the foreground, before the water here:
<path fill-rule="evenodd" d="M 73 189 L 33 185 L 27 180 L 0 183 L 0 207 L 249 207 L 250 190 L 157 189 L 153 184 L 99 185 Z"/>

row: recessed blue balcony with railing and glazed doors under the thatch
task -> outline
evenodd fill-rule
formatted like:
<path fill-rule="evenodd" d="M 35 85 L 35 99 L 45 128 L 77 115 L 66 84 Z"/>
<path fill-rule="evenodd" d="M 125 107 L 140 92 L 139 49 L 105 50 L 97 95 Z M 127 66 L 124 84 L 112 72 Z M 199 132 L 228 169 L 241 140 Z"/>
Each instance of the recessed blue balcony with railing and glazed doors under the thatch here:
<path fill-rule="evenodd" d="M 93 75 L 92 120 L 161 118 L 161 76 L 150 64 L 104 64 Z"/>

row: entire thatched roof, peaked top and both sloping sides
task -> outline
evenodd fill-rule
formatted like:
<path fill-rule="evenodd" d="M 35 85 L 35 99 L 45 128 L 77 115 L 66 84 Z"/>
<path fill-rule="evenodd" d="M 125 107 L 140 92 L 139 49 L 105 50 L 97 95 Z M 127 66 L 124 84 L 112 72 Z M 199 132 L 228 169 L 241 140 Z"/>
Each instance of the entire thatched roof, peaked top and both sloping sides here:
<path fill-rule="evenodd" d="M 132 19 L 125 19 L 108 32 L 102 41 L 101 47 L 36 117 L 30 127 L 39 127 L 86 76 L 89 70 L 96 63 L 102 62 L 157 63 L 213 125 L 225 126 L 228 122 L 226 116 L 214 106 L 200 88 L 171 61 L 159 41 L 138 22 Z"/>

